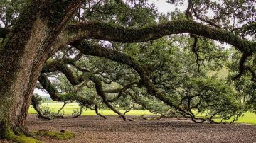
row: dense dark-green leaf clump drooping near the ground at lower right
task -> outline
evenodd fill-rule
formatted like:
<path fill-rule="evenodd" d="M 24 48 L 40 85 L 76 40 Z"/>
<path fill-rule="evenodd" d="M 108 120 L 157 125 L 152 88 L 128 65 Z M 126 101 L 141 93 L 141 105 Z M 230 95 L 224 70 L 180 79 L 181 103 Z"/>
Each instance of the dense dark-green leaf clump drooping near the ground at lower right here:
<path fill-rule="evenodd" d="M 228 84 L 217 79 L 197 79 L 195 82 L 190 84 L 194 94 L 201 94 L 196 100 L 201 100 L 202 103 L 198 107 L 198 113 L 218 114 L 218 118 L 228 120 L 233 115 L 239 117 L 245 112 L 245 106 L 240 103 L 238 94 Z"/>

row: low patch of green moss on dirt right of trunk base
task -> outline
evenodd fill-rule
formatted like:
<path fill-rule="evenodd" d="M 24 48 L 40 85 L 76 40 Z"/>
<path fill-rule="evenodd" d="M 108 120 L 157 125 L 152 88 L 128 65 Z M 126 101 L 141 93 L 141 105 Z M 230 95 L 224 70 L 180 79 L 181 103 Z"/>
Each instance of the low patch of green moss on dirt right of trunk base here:
<path fill-rule="evenodd" d="M 36 135 L 39 136 L 49 136 L 53 139 L 73 139 L 75 137 L 75 134 L 73 132 L 55 132 L 55 131 L 46 131 L 46 130 L 39 130 L 36 132 Z"/>

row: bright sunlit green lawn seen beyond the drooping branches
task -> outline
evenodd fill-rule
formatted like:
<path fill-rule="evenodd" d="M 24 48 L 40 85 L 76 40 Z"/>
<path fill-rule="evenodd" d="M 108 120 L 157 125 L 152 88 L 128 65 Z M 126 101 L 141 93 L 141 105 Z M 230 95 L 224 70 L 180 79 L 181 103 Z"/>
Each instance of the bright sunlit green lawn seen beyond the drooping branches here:
<path fill-rule="evenodd" d="M 57 112 L 63 103 L 43 103 L 43 106 L 50 107 L 51 110 Z M 70 103 L 68 105 L 65 105 L 65 108 L 63 111 L 65 112 L 65 115 L 71 115 L 73 113 L 73 110 L 79 109 L 78 104 L 76 103 Z M 124 113 L 124 110 L 120 110 L 122 113 Z M 117 115 L 112 110 L 99 110 L 99 112 L 102 115 Z M 36 114 L 36 110 L 32 108 L 32 106 L 29 108 L 28 113 L 30 114 Z M 95 110 L 84 110 L 82 115 L 96 115 Z M 127 115 L 153 115 L 148 110 L 131 110 Z M 256 114 L 255 113 L 244 113 L 244 116 L 239 118 L 237 123 L 247 123 L 247 124 L 255 124 L 256 125 Z"/>

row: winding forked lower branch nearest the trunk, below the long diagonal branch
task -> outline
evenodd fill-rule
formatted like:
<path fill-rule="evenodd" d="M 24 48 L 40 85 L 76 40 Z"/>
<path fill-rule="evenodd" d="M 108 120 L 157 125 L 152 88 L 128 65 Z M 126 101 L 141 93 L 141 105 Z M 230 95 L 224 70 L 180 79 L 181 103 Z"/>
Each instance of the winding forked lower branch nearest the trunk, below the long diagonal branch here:
<path fill-rule="evenodd" d="M 47 79 L 47 76 L 43 74 L 43 73 L 49 73 L 49 72 L 55 72 L 55 71 L 61 71 L 67 77 L 68 81 L 70 81 L 70 84 L 73 84 L 73 85 L 78 85 L 83 81 L 88 81 L 88 79 L 90 79 L 95 83 L 97 94 L 102 98 L 103 103 L 105 103 L 105 105 L 107 105 L 108 108 L 113 110 L 118 115 L 122 116 L 124 120 L 133 121 L 131 118 L 127 118 L 124 114 L 120 113 L 119 110 L 115 109 L 109 103 L 110 101 L 114 102 L 114 100 L 117 100 L 119 97 L 117 96 L 114 99 L 108 100 L 107 96 L 105 95 L 105 92 L 102 89 L 102 84 L 100 79 L 97 79 L 97 77 L 94 74 L 90 72 L 85 72 L 84 74 L 76 77 L 73 75 L 73 72 L 68 68 L 67 64 L 63 64 L 62 62 L 59 62 L 59 61 L 52 61 L 52 62 L 46 63 L 43 67 L 42 74 L 41 76 L 39 76 L 39 79 L 38 79 L 38 81 L 41 83 L 43 88 L 45 88 L 46 91 L 48 91 L 48 93 L 50 94 L 50 97 L 54 101 L 71 100 L 71 101 L 77 101 L 82 105 L 95 105 L 95 112 L 97 113 L 97 115 L 100 115 L 100 113 L 98 112 L 97 103 L 95 103 L 93 100 L 88 101 L 82 96 L 78 96 L 76 93 L 64 93 L 64 94 L 58 93 L 58 90 L 55 88 L 55 86 L 53 86 L 50 83 L 50 81 Z M 129 86 L 132 86 L 132 85 L 134 85 L 134 83 L 124 86 L 124 88 L 122 88 L 122 90 L 120 91 L 121 93 L 119 93 L 119 95 L 122 95 L 122 91 L 126 90 L 127 88 L 129 88 Z M 100 116 L 105 118 L 105 116 L 102 116 L 102 115 Z"/>

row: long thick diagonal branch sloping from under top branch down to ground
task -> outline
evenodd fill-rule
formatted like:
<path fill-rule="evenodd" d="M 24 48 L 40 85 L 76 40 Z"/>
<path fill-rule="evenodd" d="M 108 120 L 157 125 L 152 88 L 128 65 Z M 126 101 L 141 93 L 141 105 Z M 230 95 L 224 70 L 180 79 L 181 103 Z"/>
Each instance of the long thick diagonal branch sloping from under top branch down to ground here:
<path fill-rule="evenodd" d="M 186 108 L 183 108 L 180 105 L 176 105 L 176 103 L 174 103 L 174 101 L 172 101 L 171 96 L 168 96 L 165 93 L 162 93 L 154 86 L 151 79 L 149 78 L 149 75 L 148 75 L 149 72 L 146 71 L 147 69 L 145 69 L 144 66 L 142 66 L 139 62 L 137 62 L 132 57 L 129 57 L 128 55 L 125 55 L 124 53 L 121 53 L 121 52 L 117 52 L 115 50 L 101 47 L 100 45 L 90 45 L 87 42 L 82 42 L 82 44 L 80 44 L 80 45 L 78 43 L 73 43 L 73 46 L 77 47 L 78 50 L 80 50 L 80 52 L 84 53 L 85 55 L 105 57 L 112 61 L 129 65 L 135 71 L 137 71 L 137 73 L 139 74 L 139 77 L 141 78 L 140 84 L 142 84 L 142 86 L 146 87 L 147 92 L 149 94 L 158 98 L 161 101 L 164 101 L 164 103 L 166 103 L 166 105 L 169 105 L 170 107 L 175 108 L 177 110 L 177 112 L 181 113 L 181 115 L 183 115 L 184 117 L 190 117 L 191 120 L 193 120 L 193 122 L 198 122 L 198 120 L 200 120 L 199 122 L 209 121 L 209 122 L 217 123 L 217 122 L 213 121 L 213 118 L 198 118 L 191 111 L 192 109 L 189 108 L 187 110 Z M 97 80 L 95 79 L 95 81 L 97 81 Z M 97 81 L 97 82 L 99 82 L 99 81 Z M 102 97 L 105 98 L 104 95 L 102 95 Z M 107 98 L 105 98 L 104 100 L 106 101 L 106 99 Z"/>

